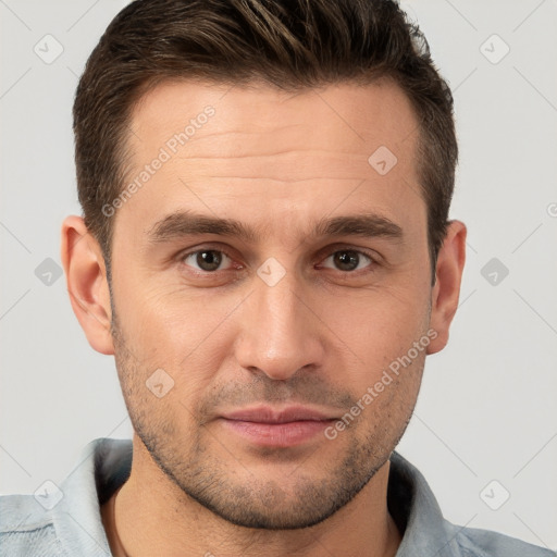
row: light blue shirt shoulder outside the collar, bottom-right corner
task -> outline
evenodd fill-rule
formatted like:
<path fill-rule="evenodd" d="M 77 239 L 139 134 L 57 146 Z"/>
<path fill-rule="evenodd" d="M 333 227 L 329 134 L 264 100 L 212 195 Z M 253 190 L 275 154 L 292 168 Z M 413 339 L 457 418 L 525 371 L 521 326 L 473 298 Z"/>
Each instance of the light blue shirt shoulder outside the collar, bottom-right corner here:
<path fill-rule="evenodd" d="M 449 524 L 462 557 L 556 557 L 550 549 L 491 530 Z"/>

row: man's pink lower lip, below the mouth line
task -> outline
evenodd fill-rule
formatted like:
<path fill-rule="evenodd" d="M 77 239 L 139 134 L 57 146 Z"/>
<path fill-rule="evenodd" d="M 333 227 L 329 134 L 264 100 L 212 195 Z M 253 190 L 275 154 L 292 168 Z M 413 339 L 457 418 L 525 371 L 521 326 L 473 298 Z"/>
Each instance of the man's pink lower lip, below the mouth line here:
<path fill-rule="evenodd" d="M 268 447 L 293 447 L 310 441 L 333 423 L 334 420 L 302 420 L 286 423 L 246 422 L 222 420 L 224 424 L 245 440 Z"/>

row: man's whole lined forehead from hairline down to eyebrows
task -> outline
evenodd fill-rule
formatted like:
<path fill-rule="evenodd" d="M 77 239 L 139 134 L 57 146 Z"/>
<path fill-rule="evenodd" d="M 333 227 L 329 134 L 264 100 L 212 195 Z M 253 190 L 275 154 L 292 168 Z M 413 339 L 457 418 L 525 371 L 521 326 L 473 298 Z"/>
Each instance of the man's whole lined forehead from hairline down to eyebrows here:
<path fill-rule="evenodd" d="M 285 215 L 317 221 L 362 203 L 408 220 L 424 212 L 417 138 L 411 104 L 389 81 L 295 94 L 165 83 L 133 111 L 126 184 L 138 193 L 117 220 L 145 234 L 165 214 L 191 209 L 280 227 Z"/>

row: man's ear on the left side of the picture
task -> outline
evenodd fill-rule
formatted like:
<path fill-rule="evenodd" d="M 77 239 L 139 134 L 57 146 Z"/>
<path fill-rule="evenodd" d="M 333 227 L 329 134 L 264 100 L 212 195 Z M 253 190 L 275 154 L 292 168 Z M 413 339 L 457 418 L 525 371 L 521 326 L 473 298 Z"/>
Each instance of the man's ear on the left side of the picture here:
<path fill-rule="evenodd" d="M 104 257 L 81 216 L 72 215 L 64 220 L 61 251 L 67 294 L 77 321 L 95 350 L 114 354 Z"/>

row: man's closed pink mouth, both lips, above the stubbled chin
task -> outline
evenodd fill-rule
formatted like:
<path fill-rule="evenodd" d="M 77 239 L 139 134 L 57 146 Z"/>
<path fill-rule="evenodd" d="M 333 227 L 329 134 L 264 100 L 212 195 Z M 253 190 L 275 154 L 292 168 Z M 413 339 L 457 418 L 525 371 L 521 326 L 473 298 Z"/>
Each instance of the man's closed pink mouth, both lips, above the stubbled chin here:
<path fill-rule="evenodd" d="M 265 447 L 294 447 L 308 443 L 338 418 L 308 407 L 281 410 L 268 406 L 227 412 L 222 425 L 250 444 Z M 324 438 L 324 435 L 323 435 Z"/>

